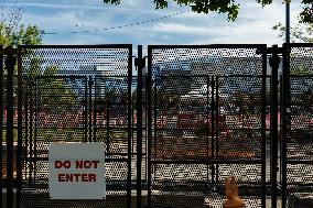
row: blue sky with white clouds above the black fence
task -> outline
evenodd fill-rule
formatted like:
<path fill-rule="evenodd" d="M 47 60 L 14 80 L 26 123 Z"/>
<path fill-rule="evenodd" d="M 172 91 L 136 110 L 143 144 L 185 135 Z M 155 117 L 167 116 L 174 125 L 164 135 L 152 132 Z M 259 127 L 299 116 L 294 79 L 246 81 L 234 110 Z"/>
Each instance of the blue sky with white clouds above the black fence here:
<path fill-rule="evenodd" d="M 122 26 L 158 19 L 190 10 L 169 0 L 169 9 L 156 10 L 152 0 L 122 0 L 117 7 L 104 4 L 102 0 L 1 0 L 6 6 L 18 2 L 24 9 L 23 22 L 36 24 L 46 32 L 44 44 L 115 44 L 137 46 L 152 44 L 218 44 L 218 43 L 266 43 L 281 44 L 283 40 L 272 31 L 278 22 L 284 22 L 284 4 L 281 0 L 265 9 L 255 0 L 239 0 L 240 11 L 235 22 L 225 14 L 197 14 L 184 12 L 159 21 Z M 300 0 L 292 1 L 292 24 L 301 8 Z M 83 32 L 86 30 L 98 32 Z M 72 34 L 71 31 L 78 33 Z"/>

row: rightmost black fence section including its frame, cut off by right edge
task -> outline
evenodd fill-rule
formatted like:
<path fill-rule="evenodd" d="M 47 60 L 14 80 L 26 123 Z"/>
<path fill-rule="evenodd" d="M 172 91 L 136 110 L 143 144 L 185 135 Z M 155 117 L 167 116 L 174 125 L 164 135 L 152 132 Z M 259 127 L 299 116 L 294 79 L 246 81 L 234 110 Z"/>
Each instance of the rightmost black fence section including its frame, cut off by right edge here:
<path fill-rule="evenodd" d="M 281 136 L 282 206 L 312 207 L 313 45 L 284 44 Z"/>

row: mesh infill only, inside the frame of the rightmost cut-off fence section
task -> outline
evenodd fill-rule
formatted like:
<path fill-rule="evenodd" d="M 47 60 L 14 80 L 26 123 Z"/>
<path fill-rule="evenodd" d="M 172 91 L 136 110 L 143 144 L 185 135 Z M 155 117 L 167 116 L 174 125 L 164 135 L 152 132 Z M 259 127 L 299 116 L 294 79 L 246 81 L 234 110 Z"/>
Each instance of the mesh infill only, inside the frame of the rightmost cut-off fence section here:
<path fill-rule="evenodd" d="M 305 204 L 313 193 L 313 56 L 311 46 L 292 45 L 290 51 L 290 100 L 285 140 L 287 199 L 289 206 Z M 303 204 L 303 206 L 304 206 Z M 312 206 L 309 202 L 307 205 Z"/>

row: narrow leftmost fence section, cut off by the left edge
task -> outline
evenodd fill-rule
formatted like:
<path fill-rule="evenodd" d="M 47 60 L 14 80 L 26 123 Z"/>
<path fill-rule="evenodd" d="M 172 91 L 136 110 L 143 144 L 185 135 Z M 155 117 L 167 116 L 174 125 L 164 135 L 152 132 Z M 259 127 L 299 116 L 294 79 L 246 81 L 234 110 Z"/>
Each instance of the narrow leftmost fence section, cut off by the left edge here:
<path fill-rule="evenodd" d="M 2 52 L 2 51 L 1 51 Z M 1 53 L 1 205 L 13 204 L 13 187 L 17 178 L 17 165 L 13 163 L 17 158 L 13 156 L 14 141 L 12 138 L 17 134 L 17 97 L 14 96 L 13 81 L 17 81 L 14 76 L 14 58 L 10 48 L 9 53 Z M 10 138 L 10 140 L 8 140 Z M 6 198 L 6 196 L 9 196 Z M 10 197 L 11 196 L 11 197 Z"/>

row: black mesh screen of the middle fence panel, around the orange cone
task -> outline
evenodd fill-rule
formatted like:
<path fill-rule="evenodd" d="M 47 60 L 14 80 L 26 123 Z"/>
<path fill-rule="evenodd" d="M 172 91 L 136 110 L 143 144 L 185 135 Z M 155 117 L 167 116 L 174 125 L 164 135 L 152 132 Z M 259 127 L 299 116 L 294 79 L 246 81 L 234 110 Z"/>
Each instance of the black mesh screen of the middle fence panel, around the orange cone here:
<path fill-rule="evenodd" d="M 247 207 L 261 206 L 266 63 L 258 47 L 149 46 L 152 206 L 180 207 L 183 196 L 186 207 L 220 207 L 229 175 Z"/>

